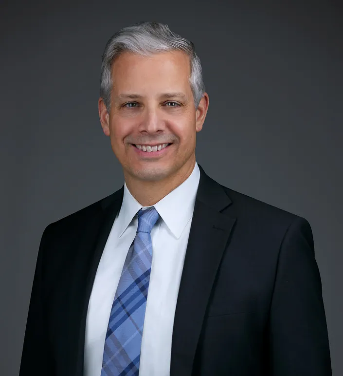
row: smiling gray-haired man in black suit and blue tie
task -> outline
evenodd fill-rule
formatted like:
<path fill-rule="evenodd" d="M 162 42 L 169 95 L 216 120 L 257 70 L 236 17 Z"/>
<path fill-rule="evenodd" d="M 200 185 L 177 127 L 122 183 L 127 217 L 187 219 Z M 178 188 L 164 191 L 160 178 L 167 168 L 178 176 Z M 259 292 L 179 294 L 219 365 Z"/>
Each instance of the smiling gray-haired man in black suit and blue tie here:
<path fill-rule="evenodd" d="M 109 39 L 99 115 L 125 183 L 44 230 L 20 376 L 331 375 L 311 227 L 198 166 L 208 105 L 166 25 Z"/>

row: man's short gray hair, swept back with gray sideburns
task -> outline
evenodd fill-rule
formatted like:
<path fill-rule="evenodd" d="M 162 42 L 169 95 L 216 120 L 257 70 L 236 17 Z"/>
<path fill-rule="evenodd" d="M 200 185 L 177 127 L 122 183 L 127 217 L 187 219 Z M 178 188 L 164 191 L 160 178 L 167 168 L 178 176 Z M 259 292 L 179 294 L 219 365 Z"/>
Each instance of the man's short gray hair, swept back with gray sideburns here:
<path fill-rule="evenodd" d="M 160 22 L 139 22 L 127 26 L 115 33 L 105 47 L 102 56 L 100 96 L 103 98 L 107 111 L 110 110 L 112 81 L 112 64 L 116 57 L 123 52 L 133 52 L 143 56 L 151 56 L 159 52 L 179 50 L 190 58 L 189 83 L 194 98 L 195 108 L 198 108 L 201 97 L 205 92 L 202 79 L 200 59 L 195 53 L 194 44 L 173 33 L 168 25 Z"/>

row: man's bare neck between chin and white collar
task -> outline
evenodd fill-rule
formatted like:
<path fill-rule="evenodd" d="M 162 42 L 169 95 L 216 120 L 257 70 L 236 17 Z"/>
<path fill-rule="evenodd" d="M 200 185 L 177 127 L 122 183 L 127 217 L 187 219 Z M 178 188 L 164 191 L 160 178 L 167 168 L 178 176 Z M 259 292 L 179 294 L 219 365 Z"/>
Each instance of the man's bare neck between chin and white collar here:
<path fill-rule="evenodd" d="M 179 187 L 190 176 L 194 166 L 195 156 L 175 174 L 158 181 L 138 180 L 132 175 L 127 175 L 125 176 L 126 187 L 142 206 L 152 206 Z"/>

